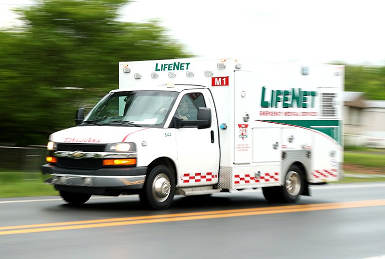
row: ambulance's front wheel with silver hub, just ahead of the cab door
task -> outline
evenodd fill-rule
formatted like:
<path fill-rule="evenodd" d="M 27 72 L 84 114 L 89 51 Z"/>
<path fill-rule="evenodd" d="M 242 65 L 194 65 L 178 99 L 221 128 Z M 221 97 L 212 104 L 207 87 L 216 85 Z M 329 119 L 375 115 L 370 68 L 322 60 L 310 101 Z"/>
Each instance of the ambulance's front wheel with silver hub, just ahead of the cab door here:
<path fill-rule="evenodd" d="M 140 202 L 149 209 L 167 209 L 175 195 L 174 174 L 165 165 L 155 166 L 147 175 L 140 192 Z"/>

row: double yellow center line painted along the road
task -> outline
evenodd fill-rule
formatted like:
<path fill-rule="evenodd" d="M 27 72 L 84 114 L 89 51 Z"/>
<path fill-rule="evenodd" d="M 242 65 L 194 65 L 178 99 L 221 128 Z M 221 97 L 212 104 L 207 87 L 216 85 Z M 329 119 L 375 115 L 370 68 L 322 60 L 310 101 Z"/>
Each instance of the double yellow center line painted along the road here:
<path fill-rule="evenodd" d="M 116 227 L 116 226 L 138 225 L 138 224 L 161 223 L 161 222 L 292 213 L 292 212 L 316 211 L 316 210 L 365 208 L 365 207 L 374 207 L 374 206 L 385 206 L 385 199 L 277 206 L 277 207 L 267 207 L 267 208 L 250 208 L 250 209 L 238 209 L 238 210 L 214 210 L 214 211 L 201 211 L 201 212 L 191 212 L 191 213 L 175 213 L 175 214 L 164 214 L 164 215 L 150 215 L 150 216 L 111 218 L 111 219 L 100 219 L 100 220 L 85 220 L 85 221 L 22 225 L 22 226 L 9 226 L 9 227 L 0 227 L 0 235 L 36 233 L 36 232 L 46 232 L 46 231 L 70 230 L 70 229 L 85 229 L 85 228 L 96 228 L 96 227 Z"/>

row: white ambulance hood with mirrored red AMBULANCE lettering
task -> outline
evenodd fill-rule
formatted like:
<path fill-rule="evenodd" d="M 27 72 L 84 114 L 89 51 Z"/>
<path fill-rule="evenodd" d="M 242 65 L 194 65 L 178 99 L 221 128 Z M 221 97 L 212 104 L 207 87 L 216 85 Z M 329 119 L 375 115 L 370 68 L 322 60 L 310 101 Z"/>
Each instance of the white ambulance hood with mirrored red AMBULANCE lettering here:
<path fill-rule="evenodd" d="M 117 126 L 80 126 L 53 133 L 50 141 L 56 143 L 108 144 L 124 142 L 135 132 L 150 128 Z"/>

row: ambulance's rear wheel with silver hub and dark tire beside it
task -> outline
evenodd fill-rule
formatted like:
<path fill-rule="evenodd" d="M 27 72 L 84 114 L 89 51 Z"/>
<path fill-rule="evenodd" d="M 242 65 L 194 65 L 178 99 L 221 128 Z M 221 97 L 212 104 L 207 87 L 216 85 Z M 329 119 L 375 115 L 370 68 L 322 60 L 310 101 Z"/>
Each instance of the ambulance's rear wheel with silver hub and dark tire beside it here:
<path fill-rule="evenodd" d="M 293 164 L 285 175 L 283 186 L 264 187 L 262 193 L 265 199 L 271 203 L 294 203 L 303 193 L 304 186 L 304 172 Z"/>

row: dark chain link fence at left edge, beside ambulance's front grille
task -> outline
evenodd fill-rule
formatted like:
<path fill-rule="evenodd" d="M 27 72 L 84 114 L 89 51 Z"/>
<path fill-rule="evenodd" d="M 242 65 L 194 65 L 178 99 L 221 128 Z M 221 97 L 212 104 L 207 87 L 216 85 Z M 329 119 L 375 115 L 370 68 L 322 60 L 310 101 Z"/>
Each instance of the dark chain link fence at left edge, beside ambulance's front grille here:
<path fill-rule="evenodd" d="M 0 171 L 39 172 L 47 146 L 0 146 Z"/>

